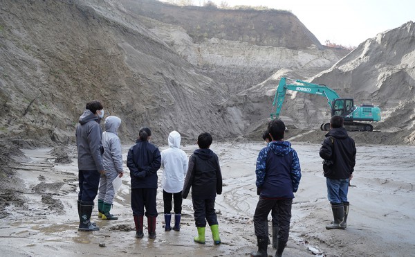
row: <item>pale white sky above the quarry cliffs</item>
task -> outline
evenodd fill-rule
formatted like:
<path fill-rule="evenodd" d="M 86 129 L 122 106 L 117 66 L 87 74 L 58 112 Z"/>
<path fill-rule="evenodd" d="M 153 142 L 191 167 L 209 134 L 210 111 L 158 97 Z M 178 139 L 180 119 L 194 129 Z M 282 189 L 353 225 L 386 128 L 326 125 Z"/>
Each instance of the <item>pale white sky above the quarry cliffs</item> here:
<path fill-rule="evenodd" d="M 223 0 L 213 0 L 218 6 Z M 317 37 L 358 46 L 378 33 L 415 21 L 414 0 L 225 0 L 229 6 L 267 6 L 290 10 Z M 203 0 L 194 0 L 199 6 Z"/>

